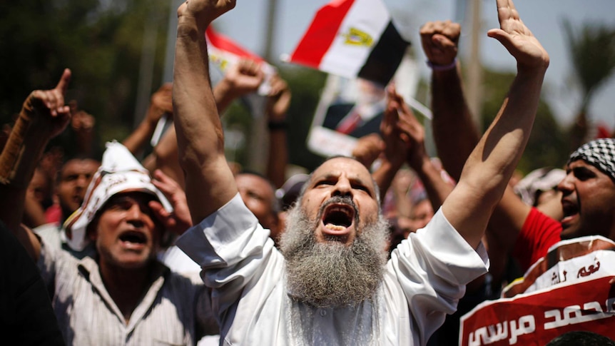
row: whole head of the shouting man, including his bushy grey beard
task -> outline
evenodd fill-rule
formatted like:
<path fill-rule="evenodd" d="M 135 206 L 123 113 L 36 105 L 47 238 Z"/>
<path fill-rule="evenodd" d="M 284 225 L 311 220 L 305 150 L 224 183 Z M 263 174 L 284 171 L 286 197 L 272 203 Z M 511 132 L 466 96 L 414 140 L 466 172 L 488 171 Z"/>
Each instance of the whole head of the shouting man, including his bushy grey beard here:
<path fill-rule="evenodd" d="M 323 163 L 287 221 L 281 250 L 290 295 L 316 307 L 357 305 L 374 295 L 386 261 L 387 223 L 361 163 Z"/>

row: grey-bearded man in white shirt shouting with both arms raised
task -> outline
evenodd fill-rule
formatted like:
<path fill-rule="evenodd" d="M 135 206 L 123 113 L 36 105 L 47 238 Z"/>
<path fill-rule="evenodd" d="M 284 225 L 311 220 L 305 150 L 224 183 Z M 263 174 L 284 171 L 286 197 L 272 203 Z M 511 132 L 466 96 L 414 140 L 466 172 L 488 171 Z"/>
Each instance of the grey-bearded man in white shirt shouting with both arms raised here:
<path fill-rule="evenodd" d="M 514 171 L 536 113 L 549 56 L 497 0 L 488 35 L 517 60 L 496 120 L 430 223 L 386 262 L 386 223 L 370 172 L 352 158 L 316 168 L 277 250 L 245 208 L 224 156 L 203 32 L 233 0 L 178 9 L 173 108 L 195 226 L 178 239 L 212 289 L 223 345 L 424 345 L 465 285 L 486 272 L 482 235 Z"/>

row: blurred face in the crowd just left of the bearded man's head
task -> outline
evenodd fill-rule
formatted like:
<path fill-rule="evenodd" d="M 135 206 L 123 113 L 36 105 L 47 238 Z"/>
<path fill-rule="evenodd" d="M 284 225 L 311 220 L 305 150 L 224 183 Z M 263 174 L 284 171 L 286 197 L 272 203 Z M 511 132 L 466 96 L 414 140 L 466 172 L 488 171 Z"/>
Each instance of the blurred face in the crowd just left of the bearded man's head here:
<path fill-rule="evenodd" d="M 278 237 L 278 216 L 273 210 L 275 191 L 264 178 L 250 173 L 235 175 L 235 183 L 245 206 L 264 228 L 271 230 L 271 238 Z"/>

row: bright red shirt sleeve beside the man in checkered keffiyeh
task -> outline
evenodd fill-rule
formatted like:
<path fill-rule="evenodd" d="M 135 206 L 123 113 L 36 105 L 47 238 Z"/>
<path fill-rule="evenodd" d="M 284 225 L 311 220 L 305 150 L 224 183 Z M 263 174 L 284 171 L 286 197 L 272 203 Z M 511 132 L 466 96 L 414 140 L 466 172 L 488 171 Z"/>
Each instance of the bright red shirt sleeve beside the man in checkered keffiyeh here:
<path fill-rule="evenodd" d="M 521 269 L 528 270 L 530 265 L 547 255 L 547 250 L 561 240 L 561 223 L 532 208 L 523 223 L 512 250 L 512 256 L 519 261 Z"/>

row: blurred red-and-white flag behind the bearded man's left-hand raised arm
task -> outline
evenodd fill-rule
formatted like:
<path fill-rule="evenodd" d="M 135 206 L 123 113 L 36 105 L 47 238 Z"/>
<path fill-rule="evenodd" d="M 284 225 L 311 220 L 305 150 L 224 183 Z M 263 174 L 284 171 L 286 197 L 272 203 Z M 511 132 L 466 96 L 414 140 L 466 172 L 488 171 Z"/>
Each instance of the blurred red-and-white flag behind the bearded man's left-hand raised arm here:
<path fill-rule="evenodd" d="M 214 31 L 211 26 L 208 26 L 205 31 L 205 41 L 207 41 L 209 60 L 220 68 L 220 71 L 225 73 L 229 66 L 238 63 L 242 58 L 249 58 L 260 63 L 265 80 L 258 88 L 259 95 L 267 95 L 270 90 L 270 77 L 275 73 L 275 67 L 267 63 L 257 54 L 248 51 L 239 44 L 235 43 L 228 37 Z"/>

